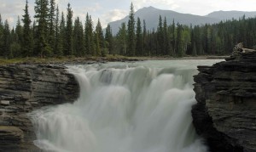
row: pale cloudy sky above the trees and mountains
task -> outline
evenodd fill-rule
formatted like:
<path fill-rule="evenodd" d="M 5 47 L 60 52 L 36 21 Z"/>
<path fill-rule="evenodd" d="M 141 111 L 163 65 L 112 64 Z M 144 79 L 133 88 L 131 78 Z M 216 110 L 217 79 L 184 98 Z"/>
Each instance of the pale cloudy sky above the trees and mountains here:
<path fill-rule="evenodd" d="M 0 14 L 3 20 L 15 25 L 17 16 L 24 14 L 26 0 L 0 0 Z M 35 0 L 28 0 L 29 14 L 34 14 Z M 74 17 L 84 21 L 88 12 L 102 26 L 108 22 L 124 18 L 130 11 L 131 0 L 55 0 L 60 10 L 66 12 L 67 3 L 73 8 Z M 185 14 L 206 15 L 218 10 L 256 11 L 256 0 L 134 0 L 135 10 L 143 7 L 174 10 Z"/>

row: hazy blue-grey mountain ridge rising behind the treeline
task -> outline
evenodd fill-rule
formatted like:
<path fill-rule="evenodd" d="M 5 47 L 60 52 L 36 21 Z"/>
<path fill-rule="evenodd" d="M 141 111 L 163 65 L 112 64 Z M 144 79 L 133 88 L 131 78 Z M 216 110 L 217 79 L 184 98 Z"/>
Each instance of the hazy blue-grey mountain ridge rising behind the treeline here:
<path fill-rule="evenodd" d="M 249 17 L 255 17 L 256 12 L 242 12 L 242 11 L 216 11 L 212 12 L 211 14 L 207 14 L 205 16 L 195 15 L 195 14 L 182 14 L 177 13 L 172 10 L 162 10 L 159 8 L 154 7 L 145 7 L 137 10 L 135 13 L 135 20 L 137 20 L 137 17 L 140 18 L 140 20 L 143 22 L 145 20 L 147 29 L 152 30 L 153 28 L 156 29 L 159 23 L 159 16 L 161 15 L 162 20 L 166 17 L 167 24 L 172 24 L 172 20 L 175 21 L 175 23 L 180 23 L 182 25 L 204 25 L 204 24 L 213 24 L 218 23 L 221 20 L 231 20 L 239 19 L 243 15 L 246 16 L 246 18 Z M 125 22 L 128 23 L 129 16 L 127 15 L 122 20 L 116 20 L 113 22 L 110 22 L 109 25 L 112 27 L 113 34 L 117 34 L 119 31 L 119 26 Z"/>

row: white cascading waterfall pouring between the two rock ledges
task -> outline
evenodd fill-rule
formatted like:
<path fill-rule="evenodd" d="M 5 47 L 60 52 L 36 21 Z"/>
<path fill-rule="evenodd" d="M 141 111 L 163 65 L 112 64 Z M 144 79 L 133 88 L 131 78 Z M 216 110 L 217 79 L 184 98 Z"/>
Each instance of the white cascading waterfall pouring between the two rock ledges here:
<path fill-rule="evenodd" d="M 206 152 L 191 123 L 192 84 L 196 65 L 214 62 L 69 66 L 80 97 L 33 111 L 34 143 L 60 152 Z"/>

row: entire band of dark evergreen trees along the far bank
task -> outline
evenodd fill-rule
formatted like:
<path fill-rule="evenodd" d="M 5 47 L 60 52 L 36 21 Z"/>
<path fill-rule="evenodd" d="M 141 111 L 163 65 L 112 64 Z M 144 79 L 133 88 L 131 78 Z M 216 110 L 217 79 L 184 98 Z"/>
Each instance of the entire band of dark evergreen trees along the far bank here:
<path fill-rule="evenodd" d="M 122 23 L 113 36 L 110 25 L 103 32 L 100 20 L 96 26 L 86 14 L 84 25 L 67 4 L 67 14 L 60 13 L 55 0 L 36 0 L 32 23 L 28 5 L 22 19 L 18 17 L 10 30 L 8 20 L 0 14 L 0 56 L 5 59 L 20 57 L 61 56 L 173 56 L 230 54 L 232 46 L 243 42 L 247 48 L 256 44 L 256 18 L 226 20 L 214 25 L 180 25 L 166 17 L 159 17 L 156 29 L 147 30 L 145 20 L 135 19 L 133 4 L 128 23 Z M 164 17 L 164 18 L 163 18 Z"/>

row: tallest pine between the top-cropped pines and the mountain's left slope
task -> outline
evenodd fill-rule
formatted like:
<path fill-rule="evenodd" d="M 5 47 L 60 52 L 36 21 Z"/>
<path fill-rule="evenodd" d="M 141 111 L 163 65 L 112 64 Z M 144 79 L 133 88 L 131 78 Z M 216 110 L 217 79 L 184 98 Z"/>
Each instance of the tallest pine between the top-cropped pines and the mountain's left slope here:
<path fill-rule="evenodd" d="M 67 4 L 67 27 L 66 27 L 66 43 L 65 55 L 73 55 L 73 11 L 70 3 Z"/>

